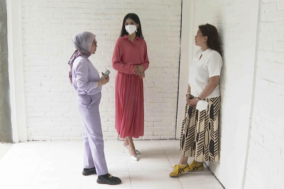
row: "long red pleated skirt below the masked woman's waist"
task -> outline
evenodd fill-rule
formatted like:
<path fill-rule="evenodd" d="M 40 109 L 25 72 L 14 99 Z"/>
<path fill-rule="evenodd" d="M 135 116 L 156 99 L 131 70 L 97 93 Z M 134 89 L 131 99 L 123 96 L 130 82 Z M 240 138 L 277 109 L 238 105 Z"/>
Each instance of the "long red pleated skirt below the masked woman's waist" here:
<path fill-rule="evenodd" d="M 115 79 L 115 128 L 120 138 L 144 134 L 143 79 L 117 73 Z"/>

